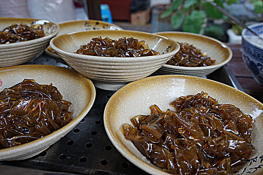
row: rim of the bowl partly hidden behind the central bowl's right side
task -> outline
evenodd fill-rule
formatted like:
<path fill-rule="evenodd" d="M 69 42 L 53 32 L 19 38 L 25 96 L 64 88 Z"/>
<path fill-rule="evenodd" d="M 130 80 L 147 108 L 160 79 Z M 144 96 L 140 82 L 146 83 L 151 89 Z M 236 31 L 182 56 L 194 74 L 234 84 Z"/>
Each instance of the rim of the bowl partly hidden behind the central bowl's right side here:
<path fill-rule="evenodd" d="M 200 37 L 204 37 L 206 39 L 209 39 L 209 40 L 212 40 L 214 42 L 217 42 L 219 43 L 222 47 L 224 47 L 225 49 L 227 49 L 228 51 L 228 56 L 227 58 L 223 61 L 223 62 L 220 62 L 220 63 L 217 63 L 217 64 L 213 64 L 213 65 L 207 65 L 207 66 L 200 66 L 200 67 L 186 67 L 186 66 L 178 66 L 178 65 L 170 65 L 170 64 L 163 64 L 163 67 L 167 67 L 167 68 L 170 68 L 170 69 L 178 69 L 178 70 L 208 70 L 208 69 L 214 69 L 214 68 L 219 68 L 220 66 L 226 64 L 227 62 L 229 62 L 232 58 L 232 50 L 226 45 L 224 44 L 223 42 L 215 39 L 215 38 L 212 38 L 212 37 L 209 37 L 209 36 L 205 36 L 205 35 L 202 35 L 202 34 L 196 34 L 196 33 L 190 33 L 190 32 L 184 32 L 184 31 L 161 31 L 161 32 L 155 32 L 155 34 L 163 34 L 163 33 L 168 33 L 168 34 L 186 34 L 186 35 L 194 35 L 194 36 L 200 36 Z"/>

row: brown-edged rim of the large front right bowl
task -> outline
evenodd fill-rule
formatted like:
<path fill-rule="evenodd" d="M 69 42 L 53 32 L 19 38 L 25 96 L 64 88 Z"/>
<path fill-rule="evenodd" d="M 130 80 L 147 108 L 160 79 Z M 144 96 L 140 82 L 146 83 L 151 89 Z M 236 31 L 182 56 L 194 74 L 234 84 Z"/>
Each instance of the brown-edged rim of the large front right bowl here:
<path fill-rule="evenodd" d="M 163 78 L 165 79 L 165 77 L 169 77 L 169 78 L 175 78 L 175 77 L 180 77 L 180 78 L 194 78 L 194 79 L 202 79 L 205 81 L 209 81 L 209 82 L 213 82 L 216 84 L 220 84 L 223 86 L 226 86 L 227 88 L 230 88 L 232 90 L 238 91 L 241 94 L 243 94 L 246 97 L 249 97 L 251 100 L 255 101 L 255 103 L 257 103 L 259 106 L 263 106 L 263 104 L 258 101 L 257 99 L 253 98 L 252 96 L 246 94 L 245 92 L 238 90 L 230 85 L 215 81 L 215 80 L 211 80 L 211 79 L 207 79 L 207 78 L 202 78 L 202 77 L 196 77 L 196 76 L 189 76 L 189 75 L 175 75 L 175 74 L 166 74 L 166 75 L 157 75 L 157 76 L 150 76 L 150 77 L 146 77 L 143 79 L 139 79 L 136 81 L 132 81 L 128 84 L 126 84 L 125 86 L 121 87 L 119 90 L 117 90 L 108 100 L 105 109 L 104 109 L 104 114 L 103 114 L 103 122 L 104 122 L 104 127 L 106 130 L 106 133 L 110 139 L 110 141 L 112 142 L 112 144 L 114 145 L 114 147 L 125 157 L 127 158 L 129 161 L 131 161 L 134 165 L 136 165 L 137 167 L 139 167 L 140 169 L 144 170 L 145 172 L 148 172 L 150 174 L 171 174 L 168 171 L 164 171 L 161 168 L 158 168 L 157 166 L 155 166 L 154 164 L 152 164 L 150 161 L 149 163 L 141 160 L 138 156 L 136 156 L 135 154 L 133 154 L 121 141 L 119 141 L 119 138 L 116 136 L 115 132 L 111 129 L 111 124 L 110 124 L 110 114 L 107 113 L 107 111 L 110 108 L 110 103 L 112 103 L 112 100 L 114 100 L 116 97 L 119 96 L 119 94 L 128 86 L 133 86 L 133 88 L 135 88 L 136 85 L 141 84 L 142 81 L 148 81 L 148 79 L 151 78 Z M 107 118 L 107 119 L 106 119 Z M 127 153 L 128 152 L 128 153 Z M 129 155 L 128 155 L 129 154 Z M 143 155 L 142 155 L 143 156 Z M 145 156 L 143 156 L 145 157 Z M 148 160 L 148 159 L 147 159 Z"/>

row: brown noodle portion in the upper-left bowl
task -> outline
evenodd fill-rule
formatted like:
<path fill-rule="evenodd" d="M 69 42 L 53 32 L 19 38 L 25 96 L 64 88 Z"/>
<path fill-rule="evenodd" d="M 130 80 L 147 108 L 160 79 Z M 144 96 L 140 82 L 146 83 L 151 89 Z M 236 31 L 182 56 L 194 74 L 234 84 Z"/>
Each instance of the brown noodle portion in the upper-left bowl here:
<path fill-rule="evenodd" d="M 32 40 L 45 36 L 42 24 L 12 24 L 0 31 L 0 44 Z"/>

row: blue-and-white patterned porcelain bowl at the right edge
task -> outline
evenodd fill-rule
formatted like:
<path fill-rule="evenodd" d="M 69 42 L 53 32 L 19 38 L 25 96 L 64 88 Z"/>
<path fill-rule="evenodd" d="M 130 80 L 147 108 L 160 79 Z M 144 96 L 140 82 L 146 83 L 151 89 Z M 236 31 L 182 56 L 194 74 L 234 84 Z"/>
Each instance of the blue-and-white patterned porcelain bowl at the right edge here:
<path fill-rule="evenodd" d="M 263 38 L 263 22 L 255 23 L 248 26 Z M 253 35 L 247 29 L 242 33 L 242 58 L 246 68 L 250 71 L 253 78 L 263 85 L 263 40 Z"/>

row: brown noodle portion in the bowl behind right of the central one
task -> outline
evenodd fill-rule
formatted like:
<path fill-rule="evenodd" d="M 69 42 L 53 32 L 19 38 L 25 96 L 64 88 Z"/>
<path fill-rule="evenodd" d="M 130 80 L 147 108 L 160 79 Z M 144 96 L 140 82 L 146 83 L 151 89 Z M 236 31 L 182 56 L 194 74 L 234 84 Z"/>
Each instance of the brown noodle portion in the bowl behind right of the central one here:
<path fill-rule="evenodd" d="M 166 64 L 186 66 L 186 67 L 200 67 L 213 65 L 215 60 L 206 56 L 200 49 L 187 42 L 178 42 L 180 44 L 179 51 Z"/>

